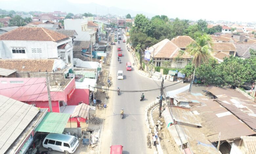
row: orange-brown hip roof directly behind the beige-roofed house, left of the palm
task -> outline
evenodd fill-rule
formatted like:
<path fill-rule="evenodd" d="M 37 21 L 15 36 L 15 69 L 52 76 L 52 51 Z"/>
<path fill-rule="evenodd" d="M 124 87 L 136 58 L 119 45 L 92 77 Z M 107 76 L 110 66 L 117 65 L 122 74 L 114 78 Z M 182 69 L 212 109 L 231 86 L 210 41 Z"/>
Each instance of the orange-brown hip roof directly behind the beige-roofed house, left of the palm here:
<path fill-rule="evenodd" d="M 174 43 L 179 48 L 187 48 L 187 46 L 191 42 L 195 42 L 191 37 L 189 36 L 177 36 L 171 40 L 172 43 Z"/>

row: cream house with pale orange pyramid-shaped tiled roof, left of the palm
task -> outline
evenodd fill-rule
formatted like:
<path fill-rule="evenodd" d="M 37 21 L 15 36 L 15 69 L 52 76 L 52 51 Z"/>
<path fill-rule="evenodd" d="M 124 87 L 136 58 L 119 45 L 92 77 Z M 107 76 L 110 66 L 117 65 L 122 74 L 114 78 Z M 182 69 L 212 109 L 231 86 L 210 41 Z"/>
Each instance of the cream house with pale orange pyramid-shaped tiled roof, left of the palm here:
<path fill-rule="evenodd" d="M 153 64 L 157 67 L 183 68 L 192 58 L 168 39 L 160 41 L 148 50 L 151 51 L 151 57 L 154 56 Z"/>

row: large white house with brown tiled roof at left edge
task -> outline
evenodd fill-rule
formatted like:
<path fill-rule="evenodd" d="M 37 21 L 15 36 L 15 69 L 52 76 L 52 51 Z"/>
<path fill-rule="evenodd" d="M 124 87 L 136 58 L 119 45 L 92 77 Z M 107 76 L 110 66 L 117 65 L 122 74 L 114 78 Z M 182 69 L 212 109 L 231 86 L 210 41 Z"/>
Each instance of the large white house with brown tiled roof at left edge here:
<path fill-rule="evenodd" d="M 62 59 L 73 63 L 72 38 L 45 28 L 19 27 L 0 35 L 0 59 Z"/>

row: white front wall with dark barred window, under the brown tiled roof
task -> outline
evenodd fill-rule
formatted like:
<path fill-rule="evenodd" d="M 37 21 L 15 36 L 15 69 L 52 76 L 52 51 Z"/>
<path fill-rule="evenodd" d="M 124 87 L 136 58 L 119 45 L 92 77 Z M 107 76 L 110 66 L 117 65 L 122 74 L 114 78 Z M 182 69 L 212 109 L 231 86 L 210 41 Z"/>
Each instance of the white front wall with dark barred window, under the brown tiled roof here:
<path fill-rule="evenodd" d="M 0 41 L 2 59 L 58 58 L 57 43 L 53 41 Z M 23 48 L 25 53 L 12 53 L 12 48 Z M 35 51 L 34 51 L 35 50 Z"/>

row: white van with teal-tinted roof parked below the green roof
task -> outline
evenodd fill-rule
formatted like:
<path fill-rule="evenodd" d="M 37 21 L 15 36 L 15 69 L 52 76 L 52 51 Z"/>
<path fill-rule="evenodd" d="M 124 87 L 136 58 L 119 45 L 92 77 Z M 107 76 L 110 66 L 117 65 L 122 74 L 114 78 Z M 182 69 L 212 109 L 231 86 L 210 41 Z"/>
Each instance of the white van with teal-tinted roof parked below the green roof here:
<path fill-rule="evenodd" d="M 42 144 L 49 151 L 56 150 L 69 154 L 75 152 L 79 142 L 75 136 L 50 133 L 45 137 Z"/>

